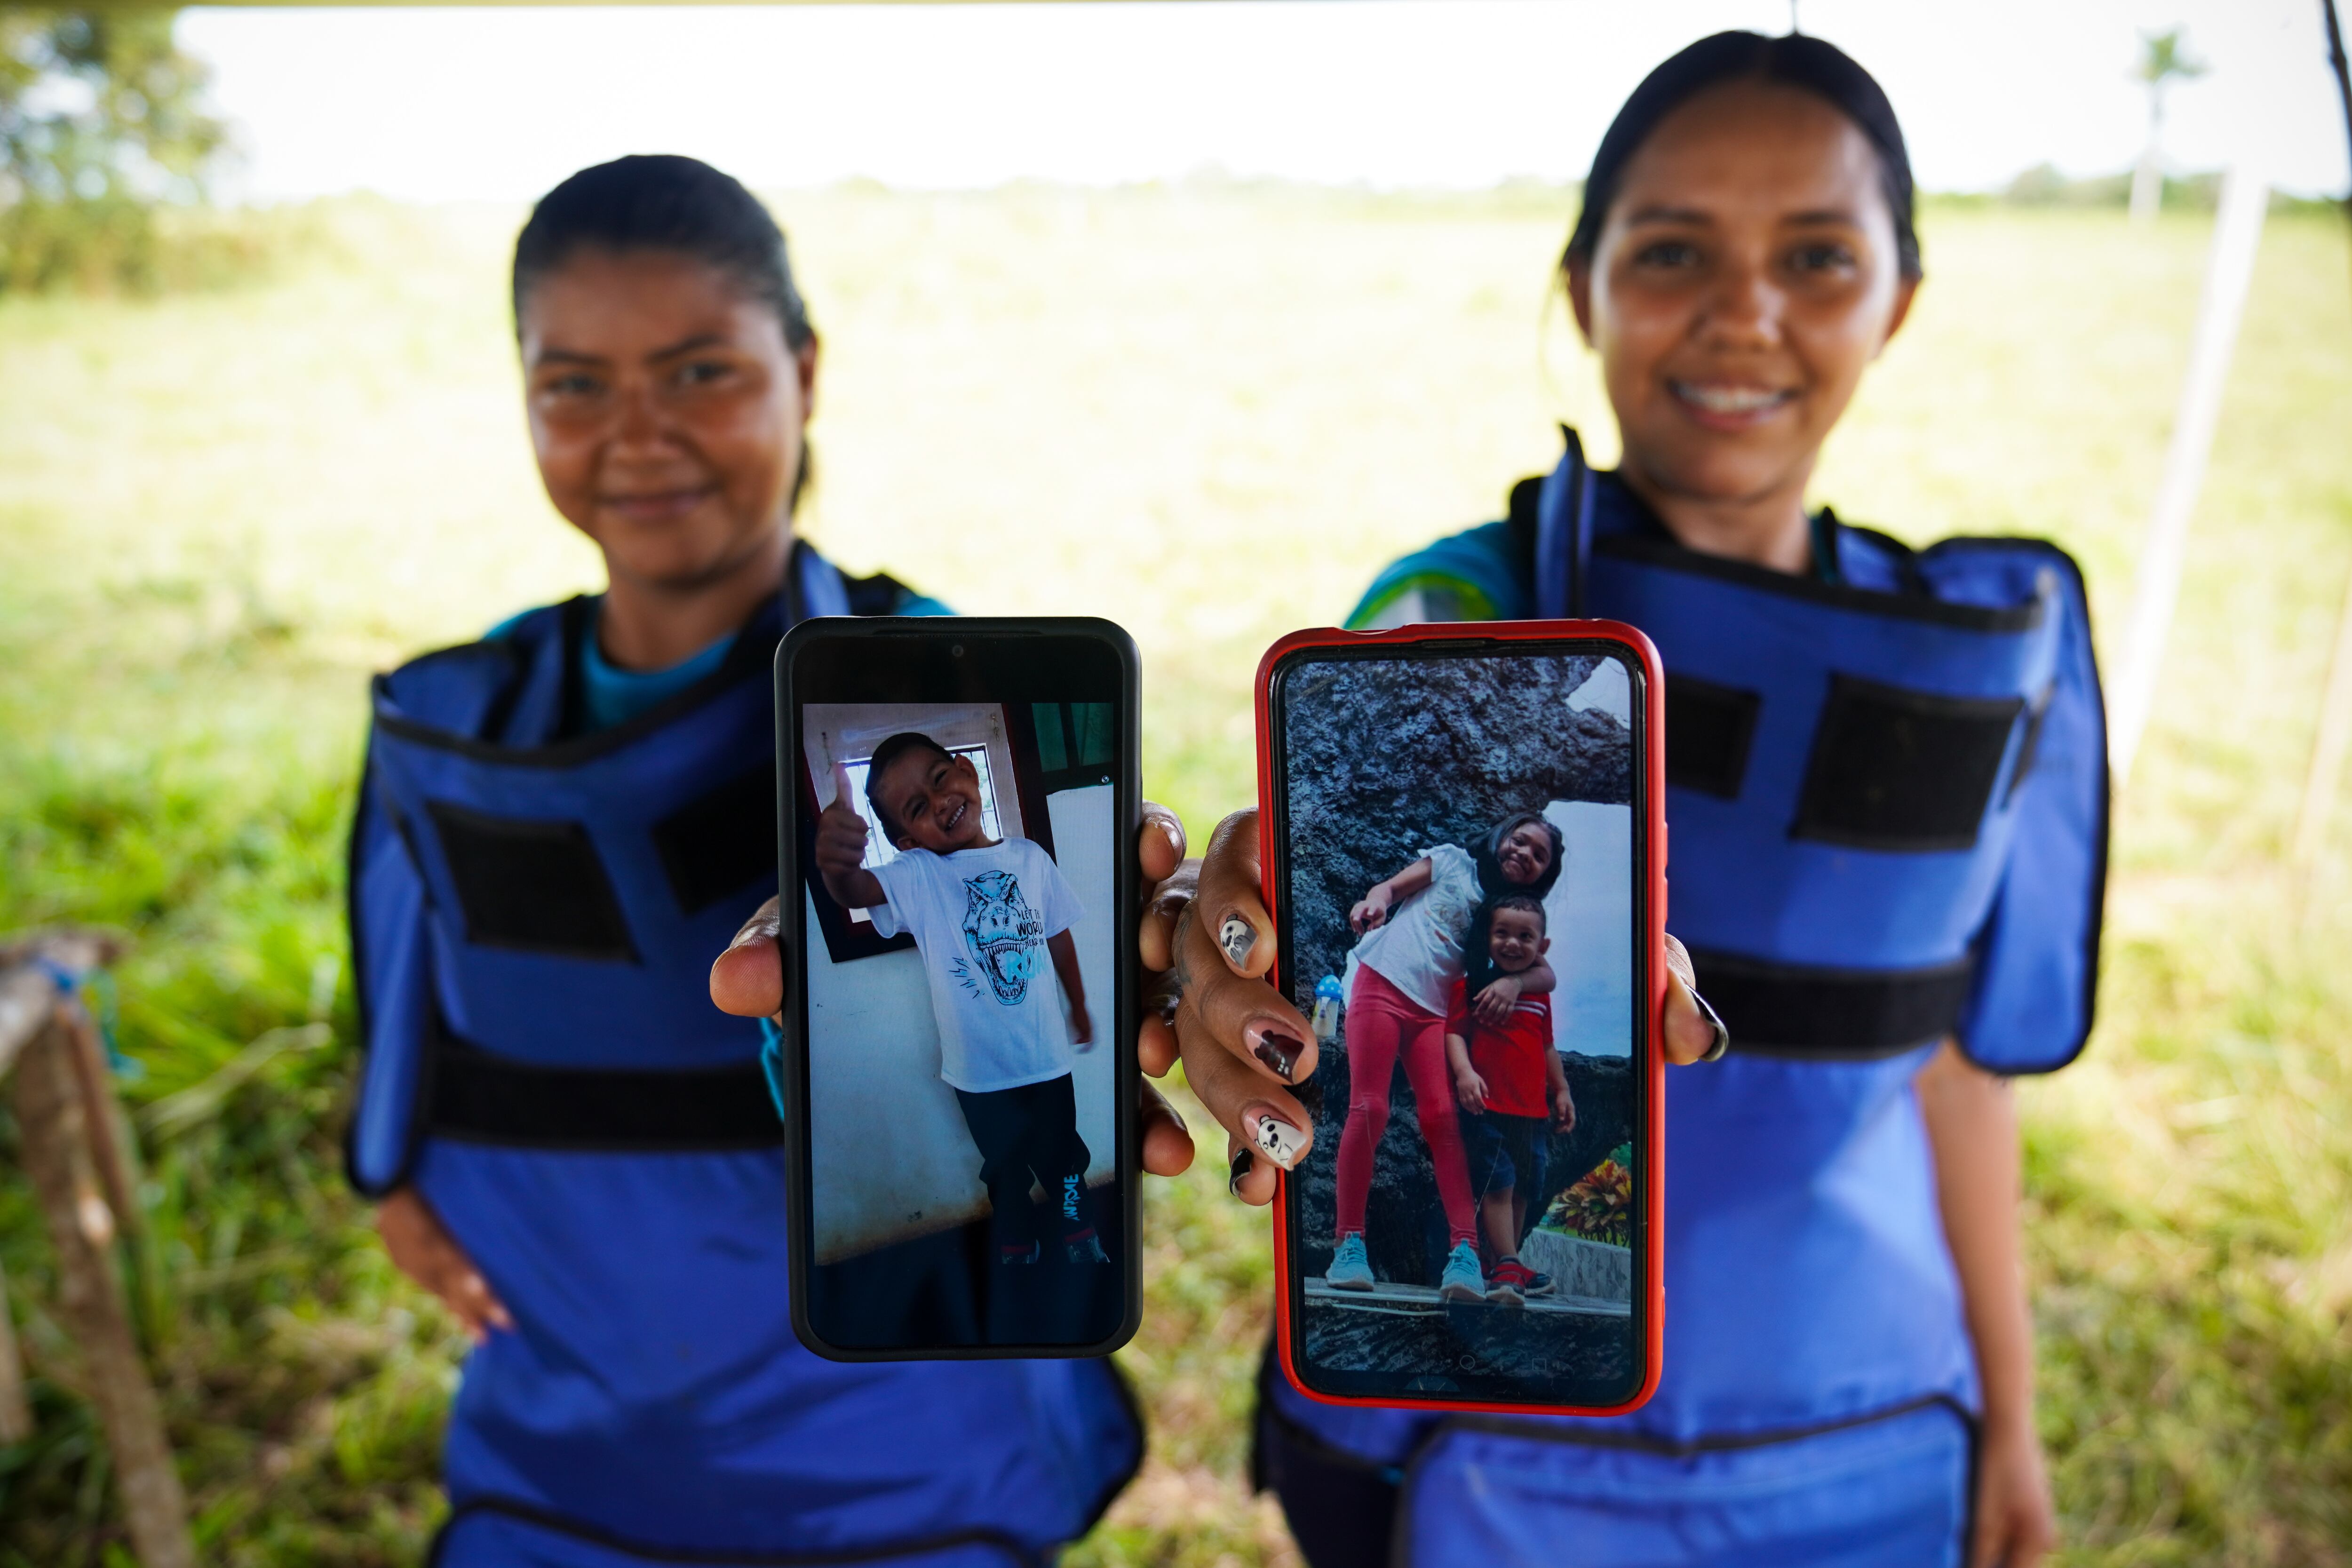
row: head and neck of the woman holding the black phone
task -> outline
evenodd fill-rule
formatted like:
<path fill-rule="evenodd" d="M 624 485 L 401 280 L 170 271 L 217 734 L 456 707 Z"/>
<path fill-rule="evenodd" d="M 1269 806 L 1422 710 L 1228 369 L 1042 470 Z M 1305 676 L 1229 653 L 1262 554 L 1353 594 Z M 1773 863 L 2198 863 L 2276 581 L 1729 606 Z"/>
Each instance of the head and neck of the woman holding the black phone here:
<path fill-rule="evenodd" d="M 532 447 L 604 552 L 597 639 L 630 670 L 710 646 L 774 592 L 809 480 L 816 331 L 783 233 L 727 188 L 691 158 L 623 158 L 557 186 L 515 240 Z"/>

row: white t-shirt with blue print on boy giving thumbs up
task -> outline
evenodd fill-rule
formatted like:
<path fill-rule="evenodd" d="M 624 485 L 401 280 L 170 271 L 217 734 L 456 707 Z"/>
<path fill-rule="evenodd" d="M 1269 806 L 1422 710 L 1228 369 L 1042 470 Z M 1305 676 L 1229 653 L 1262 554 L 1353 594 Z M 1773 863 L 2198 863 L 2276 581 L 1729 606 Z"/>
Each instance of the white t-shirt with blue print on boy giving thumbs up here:
<path fill-rule="evenodd" d="M 873 867 L 887 905 L 875 931 L 910 931 L 931 976 L 938 1077 L 967 1093 L 1044 1084 L 1070 1072 L 1070 1032 L 1047 938 L 1084 914 L 1061 867 L 1033 839 L 990 849 L 901 849 Z"/>

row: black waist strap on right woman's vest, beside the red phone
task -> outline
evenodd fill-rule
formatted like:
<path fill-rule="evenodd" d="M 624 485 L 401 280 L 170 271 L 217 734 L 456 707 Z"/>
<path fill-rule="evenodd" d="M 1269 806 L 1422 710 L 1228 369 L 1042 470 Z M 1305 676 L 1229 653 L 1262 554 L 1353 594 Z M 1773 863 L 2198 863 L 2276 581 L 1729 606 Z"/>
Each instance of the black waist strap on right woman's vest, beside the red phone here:
<path fill-rule="evenodd" d="M 1867 1060 L 1959 1027 L 1973 964 L 1813 969 L 1691 950 L 1698 990 L 1724 1016 L 1731 1048 L 1759 1056 Z"/>

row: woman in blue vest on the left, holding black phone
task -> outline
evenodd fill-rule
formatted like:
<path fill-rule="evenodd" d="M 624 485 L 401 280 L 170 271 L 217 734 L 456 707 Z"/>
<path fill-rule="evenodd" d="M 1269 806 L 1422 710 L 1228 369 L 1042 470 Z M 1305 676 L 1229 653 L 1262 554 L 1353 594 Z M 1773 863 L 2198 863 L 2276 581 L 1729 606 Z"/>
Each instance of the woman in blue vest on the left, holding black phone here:
<path fill-rule="evenodd" d="M 1042 1563 L 1141 1462 L 1131 1399 L 1108 1361 L 804 1352 L 760 1030 L 706 999 L 774 889 L 776 639 L 941 607 L 793 536 L 816 334 L 734 179 L 574 174 L 513 292 L 609 588 L 381 677 L 350 846 L 350 1175 L 475 1335 L 435 1561 Z M 1167 875 L 1181 837 L 1145 842 Z"/>

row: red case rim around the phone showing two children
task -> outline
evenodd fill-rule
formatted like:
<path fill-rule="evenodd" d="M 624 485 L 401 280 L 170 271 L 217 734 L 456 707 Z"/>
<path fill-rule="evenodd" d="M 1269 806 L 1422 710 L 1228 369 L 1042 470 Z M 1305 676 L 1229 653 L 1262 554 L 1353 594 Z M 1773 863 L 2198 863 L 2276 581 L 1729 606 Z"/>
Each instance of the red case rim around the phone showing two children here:
<path fill-rule="evenodd" d="M 1298 1368 L 1291 1366 L 1291 1239 L 1289 1239 L 1289 1175 L 1282 1175 L 1282 1185 L 1275 1190 L 1275 1345 L 1282 1352 L 1282 1375 L 1291 1380 L 1291 1387 L 1315 1399 L 1317 1403 L 1331 1406 L 1371 1406 L 1371 1408 L 1428 1408 L 1428 1410 L 1491 1410 L 1505 1415 L 1623 1415 L 1637 1410 L 1658 1392 L 1658 1373 L 1665 1356 L 1665 1253 L 1663 1253 L 1663 1225 L 1665 1225 L 1665 1051 L 1658 1039 L 1658 1020 L 1665 1006 L 1665 668 L 1658 663 L 1658 649 L 1651 646 L 1637 628 L 1623 621 L 1475 621 L 1475 623 L 1449 623 L 1449 625 L 1404 625 L 1392 632 L 1348 632 L 1338 628 L 1291 632 L 1275 646 L 1265 649 L 1265 658 L 1258 661 L 1258 865 L 1261 891 L 1265 896 L 1265 912 L 1282 919 L 1277 905 L 1279 889 L 1275 889 L 1275 867 L 1279 865 L 1275 856 L 1275 757 L 1272 757 L 1272 675 L 1287 656 L 1301 649 L 1362 649 L 1362 646 L 1411 646 L 1421 642 L 1449 642 L 1461 644 L 1465 639 L 1479 642 L 1562 642 L 1562 639 L 1604 639 L 1623 644 L 1628 654 L 1642 665 L 1642 705 L 1646 715 L 1644 724 L 1644 757 L 1642 766 L 1649 778 L 1649 820 L 1644 823 L 1644 853 L 1649 858 L 1649 875 L 1644 886 L 1649 891 L 1649 905 L 1644 910 L 1644 924 L 1649 926 L 1649 1030 L 1642 1037 L 1646 1072 L 1644 1086 L 1646 1095 L 1646 1119 L 1639 1133 L 1646 1138 L 1642 1147 L 1644 1173 L 1642 1182 L 1642 1258 L 1637 1260 L 1642 1281 L 1639 1300 L 1646 1302 L 1644 1312 L 1644 1349 L 1646 1363 L 1642 1375 L 1642 1387 L 1635 1389 L 1630 1399 L 1613 1406 L 1569 1406 L 1569 1403 L 1494 1403 L 1494 1401 L 1465 1401 L 1465 1399 L 1357 1399 L 1345 1394 L 1322 1394 L 1310 1389 L 1301 1378 Z M 1284 985 L 1279 973 L 1268 973 L 1277 987 Z"/>

